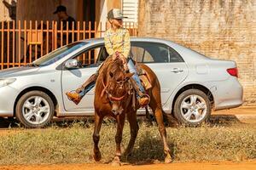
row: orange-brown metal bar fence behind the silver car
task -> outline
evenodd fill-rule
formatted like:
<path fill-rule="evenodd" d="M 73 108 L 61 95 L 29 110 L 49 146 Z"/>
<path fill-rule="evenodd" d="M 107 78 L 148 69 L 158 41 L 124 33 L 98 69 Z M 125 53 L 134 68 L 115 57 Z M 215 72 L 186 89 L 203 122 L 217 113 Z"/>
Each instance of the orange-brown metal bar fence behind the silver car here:
<path fill-rule="evenodd" d="M 31 63 L 55 48 L 70 42 L 102 37 L 107 23 L 76 22 L 71 26 L 57 21 L 2 21 L 0 23 L 0 70 Z M 70 29 L 70 27 L 72 29 Z M 137 23 L 124 23 L 137 37 Z"/>

